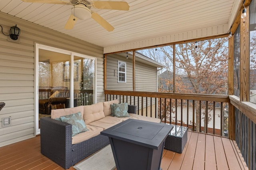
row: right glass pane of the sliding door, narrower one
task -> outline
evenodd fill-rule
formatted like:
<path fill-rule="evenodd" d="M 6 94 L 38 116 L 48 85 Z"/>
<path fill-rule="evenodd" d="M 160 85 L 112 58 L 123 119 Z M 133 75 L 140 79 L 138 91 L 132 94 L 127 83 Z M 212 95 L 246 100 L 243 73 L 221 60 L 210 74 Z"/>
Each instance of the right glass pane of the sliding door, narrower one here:
<path fill-rule="evenodd" d="M 74 56 L 74 106 L 94 104 L 94 81 L 95 60 Z"/>

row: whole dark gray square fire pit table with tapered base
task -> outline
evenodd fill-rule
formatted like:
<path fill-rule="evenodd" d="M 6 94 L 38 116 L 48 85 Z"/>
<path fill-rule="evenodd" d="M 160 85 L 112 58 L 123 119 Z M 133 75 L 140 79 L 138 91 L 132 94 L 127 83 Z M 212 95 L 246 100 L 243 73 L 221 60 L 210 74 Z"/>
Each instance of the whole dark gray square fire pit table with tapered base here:
<path fill-rule="evenodd" d="M 128 119 L 101 132 L 109 137 L 117 170 L 161 170 L 172 125 Z"/>

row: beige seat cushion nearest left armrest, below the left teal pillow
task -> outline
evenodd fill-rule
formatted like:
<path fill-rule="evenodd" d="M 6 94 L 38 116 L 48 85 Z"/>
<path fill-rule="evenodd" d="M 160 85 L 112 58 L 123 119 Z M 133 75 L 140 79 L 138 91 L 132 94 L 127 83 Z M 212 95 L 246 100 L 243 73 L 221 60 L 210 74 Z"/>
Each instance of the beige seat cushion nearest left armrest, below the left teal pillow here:
<path fill-rule="evenodd" d="M 92 137 L 100 135 L 100 132 L 103 131 L 103 128 L 86 125 L 89 131 L 78 133 L 77 135 L 72 137 L 72 144 L 80 143 L 82 141 L 86 141 Z"/>

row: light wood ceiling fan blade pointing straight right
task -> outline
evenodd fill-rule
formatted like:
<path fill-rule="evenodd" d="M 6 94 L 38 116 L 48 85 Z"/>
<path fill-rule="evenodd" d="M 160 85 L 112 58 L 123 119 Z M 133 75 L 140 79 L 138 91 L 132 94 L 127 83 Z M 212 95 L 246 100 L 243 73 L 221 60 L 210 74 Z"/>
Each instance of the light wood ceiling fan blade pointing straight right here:
<path fill-rule="evenodd" d="M 92 2 L 92 6 L 94 6 L 97 9 L 106 9 L 106 10 L 128 11 L 130 8 L 127 2 L 118 2 L 118 1 L 96 1 L 96 2 Z"/>

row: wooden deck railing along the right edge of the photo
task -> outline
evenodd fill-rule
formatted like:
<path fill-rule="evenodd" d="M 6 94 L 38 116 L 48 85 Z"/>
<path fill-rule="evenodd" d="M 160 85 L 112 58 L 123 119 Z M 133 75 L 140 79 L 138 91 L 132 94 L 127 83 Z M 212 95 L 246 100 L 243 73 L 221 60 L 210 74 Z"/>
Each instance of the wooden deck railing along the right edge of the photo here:
<path fill-rule="evenodd" d="M 250 102 L 240 102 L 230 96 L 234 109 L 234 140 L 250 170 L 256 169 L 256 107 Z"/>

